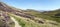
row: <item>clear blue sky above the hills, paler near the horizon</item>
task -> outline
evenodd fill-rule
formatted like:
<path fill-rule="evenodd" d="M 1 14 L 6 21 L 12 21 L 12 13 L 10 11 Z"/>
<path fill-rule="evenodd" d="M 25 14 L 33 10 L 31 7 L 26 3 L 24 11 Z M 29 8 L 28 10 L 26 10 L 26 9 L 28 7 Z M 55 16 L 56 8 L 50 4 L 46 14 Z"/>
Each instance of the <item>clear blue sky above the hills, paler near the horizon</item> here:
<path fill-rule="evenodd" d="M 60 8 L 60 0 L 1 0 L 20 9 L 55 10 Z"/>

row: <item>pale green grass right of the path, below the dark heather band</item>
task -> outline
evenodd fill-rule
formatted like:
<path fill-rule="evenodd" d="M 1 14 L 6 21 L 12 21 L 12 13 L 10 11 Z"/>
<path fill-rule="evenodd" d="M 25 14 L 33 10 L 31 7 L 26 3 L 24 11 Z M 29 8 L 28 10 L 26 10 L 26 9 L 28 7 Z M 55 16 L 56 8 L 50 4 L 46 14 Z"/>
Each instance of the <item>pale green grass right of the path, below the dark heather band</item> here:
<path fill-rule="evenodd" d="M 10 16 L 14 17 L 22 27 L 56 27 L 55 25 L 49 25 L 49 23 L 39 24 L 39 23 L 34 22 L 33 20 L 21 18 L 16 15 L 12 15 L 12 14 L 10 14 Z"/>

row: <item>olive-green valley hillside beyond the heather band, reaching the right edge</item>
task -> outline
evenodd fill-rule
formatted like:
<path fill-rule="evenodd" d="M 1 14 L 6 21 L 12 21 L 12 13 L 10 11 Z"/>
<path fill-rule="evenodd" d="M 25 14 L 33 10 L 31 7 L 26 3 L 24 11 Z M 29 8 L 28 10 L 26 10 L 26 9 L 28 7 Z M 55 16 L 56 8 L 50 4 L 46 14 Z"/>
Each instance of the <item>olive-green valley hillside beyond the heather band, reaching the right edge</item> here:
<path fill-rule="evenodd" d="M 31 14 L 33 16 L 44 18 L 48 20 L 54 20 L 60 23 L 60 9 L 53 10 L 53 11 L 44 11 L 44 12 L 38 12 L 35 10 L 26 10 L 24 11 L 27 14 Z"/>

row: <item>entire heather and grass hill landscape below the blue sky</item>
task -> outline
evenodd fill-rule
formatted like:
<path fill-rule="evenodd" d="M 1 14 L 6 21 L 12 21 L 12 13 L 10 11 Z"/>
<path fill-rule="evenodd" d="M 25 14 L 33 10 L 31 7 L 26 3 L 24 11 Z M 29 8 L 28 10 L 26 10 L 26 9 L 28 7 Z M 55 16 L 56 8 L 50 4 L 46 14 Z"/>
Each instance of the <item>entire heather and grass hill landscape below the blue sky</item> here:
<path fill-rule="evenodd" d="M 60 20 L 56 19 L 59 14 L 58 10 L 21 10 L 0 2 L 0 27 L 60 27 Z"/>

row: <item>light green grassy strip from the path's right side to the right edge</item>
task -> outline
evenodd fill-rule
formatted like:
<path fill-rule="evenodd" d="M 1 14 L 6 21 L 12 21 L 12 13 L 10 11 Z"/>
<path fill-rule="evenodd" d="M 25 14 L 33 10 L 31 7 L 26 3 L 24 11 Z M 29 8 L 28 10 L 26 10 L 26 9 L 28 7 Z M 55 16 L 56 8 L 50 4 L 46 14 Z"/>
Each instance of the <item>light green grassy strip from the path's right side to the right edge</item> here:
<path fill-rule="evenodd" d="M 20 17 L 20 16 L 16 16 L 14 14 L 9 14 L 9 15 L 11 17 L 14 17 L 22 27 L 60 27 L 59 26 L 60 23 L 56 22 L 55 24 L 51 24 L 50 22 L 54 22 L 51 20 L 46 20 L 44 22 L 44 24 L 41 24 L 41 23 L 35 22 L 34 20 L 24 18 L 24 17 Z"/>

